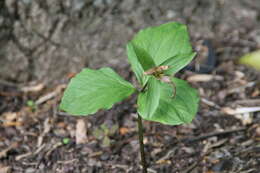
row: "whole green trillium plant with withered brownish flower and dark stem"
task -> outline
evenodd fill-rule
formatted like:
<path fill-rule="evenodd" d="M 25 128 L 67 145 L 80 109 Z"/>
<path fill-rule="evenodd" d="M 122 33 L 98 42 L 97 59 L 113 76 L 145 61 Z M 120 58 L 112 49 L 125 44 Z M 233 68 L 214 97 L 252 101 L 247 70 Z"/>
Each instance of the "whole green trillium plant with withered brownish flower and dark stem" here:
<path fill-rule="evenodd" d="M 137 113 L 143 172 L 147 172 L 142 119 L 167 125 L 190 123 L 199 97 L 197 91 L 174 74 L 195 57 L 187 27 L 170 22 L 141 30 L 127 44 L 131 68 L 140 84 L 134 87 L 111 68 L 83 69 L 71 79 L 60 108 L 87 116 L 138 93 Z"/>

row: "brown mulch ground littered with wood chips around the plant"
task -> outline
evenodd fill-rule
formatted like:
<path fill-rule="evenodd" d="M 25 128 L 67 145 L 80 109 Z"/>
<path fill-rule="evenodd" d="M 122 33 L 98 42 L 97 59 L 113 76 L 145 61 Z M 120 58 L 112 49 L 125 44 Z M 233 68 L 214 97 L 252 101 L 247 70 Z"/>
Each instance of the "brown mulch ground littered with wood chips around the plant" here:
<path fill-rule="evenodd" d="M 257 72 L 229 61 L 179 77 L 199 90 L 199 112 L 187 125 L 144 122 L 149 171 L 258 173 Z M 64 84 L 0 87 L 0 172 L 140 172 L 136 98 L 84 118 L 58 109 Z"/>

